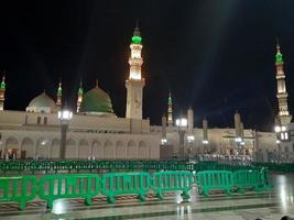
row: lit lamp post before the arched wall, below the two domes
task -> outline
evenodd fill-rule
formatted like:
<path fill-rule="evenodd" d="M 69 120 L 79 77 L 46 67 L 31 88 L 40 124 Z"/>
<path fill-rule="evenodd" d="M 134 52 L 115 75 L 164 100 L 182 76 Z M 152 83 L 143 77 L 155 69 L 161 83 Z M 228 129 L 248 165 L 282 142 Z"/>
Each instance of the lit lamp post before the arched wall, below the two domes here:
<path fill-rule="evenodd" d="M 65 158 L 65 147 L 66 147 L 66 132 L 69 125 L 69 121 L 73 118 L 73 112 L 68 109 L 63 109 L 58 111 L 58 119 L 61 123 L 61 150 L 59 158 Z"/>

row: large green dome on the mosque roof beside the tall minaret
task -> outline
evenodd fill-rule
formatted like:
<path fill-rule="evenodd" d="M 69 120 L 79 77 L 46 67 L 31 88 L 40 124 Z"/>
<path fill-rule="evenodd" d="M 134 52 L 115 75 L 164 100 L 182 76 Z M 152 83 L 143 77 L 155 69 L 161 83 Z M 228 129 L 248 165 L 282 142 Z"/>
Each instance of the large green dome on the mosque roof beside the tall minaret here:
<path fill-rule="evenodd" d="M 113 113 L 110 97 L 99 87 L 84 95 L 79 111 L 81 113 Z"/>

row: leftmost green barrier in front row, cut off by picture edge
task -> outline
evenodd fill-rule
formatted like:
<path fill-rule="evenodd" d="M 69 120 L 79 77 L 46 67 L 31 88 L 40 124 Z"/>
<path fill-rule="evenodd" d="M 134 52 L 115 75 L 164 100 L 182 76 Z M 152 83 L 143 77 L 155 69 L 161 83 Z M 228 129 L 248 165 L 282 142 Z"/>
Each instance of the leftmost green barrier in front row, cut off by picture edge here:
<path fill-rule="evenodd" d="M 0 201 L 17 201 L 23 210 L 35 198 L 36 183 L 35 176 L 0 177 Z"/>

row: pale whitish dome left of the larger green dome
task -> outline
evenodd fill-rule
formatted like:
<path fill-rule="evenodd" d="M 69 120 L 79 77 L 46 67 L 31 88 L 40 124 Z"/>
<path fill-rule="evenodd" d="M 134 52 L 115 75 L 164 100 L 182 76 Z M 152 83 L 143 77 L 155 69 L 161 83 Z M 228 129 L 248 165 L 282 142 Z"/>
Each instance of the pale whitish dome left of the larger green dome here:
<path fill-rule="evenodd" d="M 54 110 L 56 110 L 56 105 L 54 100 L 45 94 L 45 91 L 33 98 L 26 108 L 26 111 L 34 112 L 52 112 Z"/>

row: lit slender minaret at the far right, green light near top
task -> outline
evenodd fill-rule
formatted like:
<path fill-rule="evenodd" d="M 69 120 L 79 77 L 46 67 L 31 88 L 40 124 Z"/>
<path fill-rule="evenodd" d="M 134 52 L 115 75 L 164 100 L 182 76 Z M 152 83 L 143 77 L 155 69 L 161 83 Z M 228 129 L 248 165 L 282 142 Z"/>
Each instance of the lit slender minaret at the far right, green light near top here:
<path fill-rule="evenodd" d="M 279 102 L 279 113 L 277 118 L 282 125 L 291 122 L 292 116 L 287 110 L 287 91 L 285 85 L 285 74 L 284 74 L 284 63 L 283 55 L 280 51 L 280 44 L 276 42 L 276 54 L 275 54 L 275 66 L 276 66 L 276 82 L 277 82 L 277 102 Z"/>

